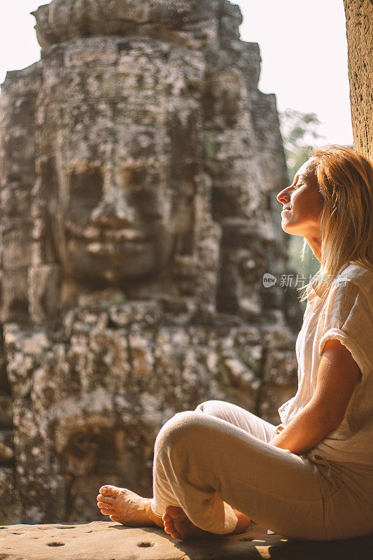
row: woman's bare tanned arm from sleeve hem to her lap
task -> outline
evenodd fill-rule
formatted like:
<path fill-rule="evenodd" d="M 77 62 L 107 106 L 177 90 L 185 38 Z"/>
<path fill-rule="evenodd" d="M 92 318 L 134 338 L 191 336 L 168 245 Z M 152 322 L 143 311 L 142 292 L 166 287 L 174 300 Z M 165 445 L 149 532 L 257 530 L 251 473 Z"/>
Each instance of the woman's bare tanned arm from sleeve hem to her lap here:
<path fill-rule="evenodd" d="M 271 441 L 301 455 L 342 422 L 360 369 L 339 340 L 327 340 L 318 367 L 316 391 L 308 405 Z"/>

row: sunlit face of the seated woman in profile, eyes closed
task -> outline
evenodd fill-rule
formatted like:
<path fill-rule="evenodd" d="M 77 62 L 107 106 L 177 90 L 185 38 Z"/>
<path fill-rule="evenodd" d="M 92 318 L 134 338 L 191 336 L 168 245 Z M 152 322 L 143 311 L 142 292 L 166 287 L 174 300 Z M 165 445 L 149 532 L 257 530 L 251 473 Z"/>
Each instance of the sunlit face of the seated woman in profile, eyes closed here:
<path fill-rule="evenodd" d="M 323 209 L 323 197 L 318 190 L 315 163 L 314 158 L 305 162 L 297 171 L 290 187 L 281 190 L 276 197 L 283 204 L 283 231 L 306 239 L 319 236 L 319 217 Z"/>

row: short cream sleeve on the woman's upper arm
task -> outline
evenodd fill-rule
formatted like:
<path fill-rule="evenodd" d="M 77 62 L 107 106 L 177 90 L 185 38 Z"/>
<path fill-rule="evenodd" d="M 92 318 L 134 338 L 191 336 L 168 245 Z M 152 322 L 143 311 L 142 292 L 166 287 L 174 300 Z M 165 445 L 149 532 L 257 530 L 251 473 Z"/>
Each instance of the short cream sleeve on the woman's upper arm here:
<path fill-rule="evenodd" d="M 337 339 L 346 346 L 363 376 L 372 372 L 372 302 L 367 300 L 356 283 L 337 281 L 330 288 L 325 303 L 323 332 L 318 346 L 319 356 L 329 339 Z"/>

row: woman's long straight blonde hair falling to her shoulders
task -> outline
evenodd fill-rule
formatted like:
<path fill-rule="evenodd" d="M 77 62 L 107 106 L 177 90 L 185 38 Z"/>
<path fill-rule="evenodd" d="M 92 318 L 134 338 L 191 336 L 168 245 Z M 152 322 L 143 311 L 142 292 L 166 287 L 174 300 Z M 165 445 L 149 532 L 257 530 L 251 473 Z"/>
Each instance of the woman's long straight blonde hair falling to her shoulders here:
<path fill-rule="evenodd" d="M 300 288 L 300 301 L 307 287 L 327 297 L 332 279 L 345 264 L 373 272 L 373 165 L 365 156 L 344 146 L 314 148 L 315 174 L 323 197 L 320 215 L 321 267 L 307 286 Z M 307 239 L 304 239 L 301 253 Z M 299 288 L 298 288 L 299 289 Z"/>

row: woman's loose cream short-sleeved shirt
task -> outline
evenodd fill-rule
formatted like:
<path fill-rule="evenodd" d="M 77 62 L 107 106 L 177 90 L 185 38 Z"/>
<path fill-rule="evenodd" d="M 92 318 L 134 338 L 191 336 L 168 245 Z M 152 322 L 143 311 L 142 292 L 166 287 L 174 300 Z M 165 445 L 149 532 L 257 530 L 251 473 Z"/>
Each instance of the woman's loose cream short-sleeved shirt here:
<path fill-rule="evenodd" d="M 279 408 L 281 422 L 286 426 L 311 400 L 324 344 L 338 339 L 358 364 L 360 379 L 342 422 L 304 456 L 373 465 L 373 272 L 348 263 L 324 302 L 312 287 L 307 300 L 295 345 L 298 390 Z"/>

